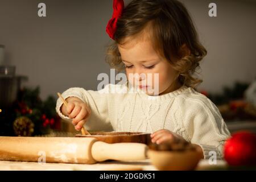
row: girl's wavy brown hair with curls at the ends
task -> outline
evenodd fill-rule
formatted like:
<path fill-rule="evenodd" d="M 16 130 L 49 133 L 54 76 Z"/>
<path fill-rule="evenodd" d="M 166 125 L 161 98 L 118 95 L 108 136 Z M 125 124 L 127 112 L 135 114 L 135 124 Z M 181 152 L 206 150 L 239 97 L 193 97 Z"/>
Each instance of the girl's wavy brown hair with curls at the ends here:
<path fill-rule="evenodd" d="M 167 59 L 178 72 L 181 85 L 195 88 L 202 80 L 194 77 L 199 62 L 207 50 L 199 42 L 196 28 L 183 3 L 176 0 L 133 0 L 125 7 L 117 21 L 114 42 L 106 51 L 106 62 L 110 67 L 122 71 L 118 44 L 125 38 L 140 34 L 150 24 L 152 43 L 155 50 Z M 190 55 L 183 56 L 181 46 L 187 46 Z"/>

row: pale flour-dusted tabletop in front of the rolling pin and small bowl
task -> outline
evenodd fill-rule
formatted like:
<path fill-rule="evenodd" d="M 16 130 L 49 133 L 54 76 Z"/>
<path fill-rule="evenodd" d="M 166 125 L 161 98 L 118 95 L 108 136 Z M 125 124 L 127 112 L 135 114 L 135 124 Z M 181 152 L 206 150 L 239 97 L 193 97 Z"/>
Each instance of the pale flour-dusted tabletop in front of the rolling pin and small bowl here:
<path fill-rule="evenodd" d="M 225 168 L 226 163 L 223 160 L 217 160 L 217 164 L 210 165 L 208 160 L 201 160 L 197 166 L 197 170 L 208 170 L 216 168 Z M 12 162 L 0 161 L 0 170 L 24 170 L 24 171 L 156 171 L 152 166 L 150 159 L 139 160 L 135 162 L 130 161 L 114 161 L 108 160 L 96 164 L 65 164 L 65 163 L 36 163 L 36 162 Z"/>

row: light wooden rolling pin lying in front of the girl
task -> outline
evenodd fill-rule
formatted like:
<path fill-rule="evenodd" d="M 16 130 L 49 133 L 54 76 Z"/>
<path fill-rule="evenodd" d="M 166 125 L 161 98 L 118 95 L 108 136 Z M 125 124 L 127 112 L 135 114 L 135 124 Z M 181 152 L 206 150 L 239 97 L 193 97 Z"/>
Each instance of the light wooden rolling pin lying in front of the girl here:
<path fill-rule="evenodd" d="M 96 138 L 0 137 L 0 160 L 94 164 L 104 160 L 143 160 L 148 147 L 142 143 L 100 142 Z"/>

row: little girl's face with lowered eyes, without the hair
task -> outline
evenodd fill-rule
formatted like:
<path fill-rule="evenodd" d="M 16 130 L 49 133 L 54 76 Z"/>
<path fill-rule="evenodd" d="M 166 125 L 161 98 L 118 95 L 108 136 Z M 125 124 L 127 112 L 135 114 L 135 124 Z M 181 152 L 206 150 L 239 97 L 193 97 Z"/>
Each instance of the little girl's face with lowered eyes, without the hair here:
<path fill-rule="evenodd" d="M 175 79 L 177 71 L 156 53 L 149 39 L 127 41 L 123 45 L 118 45 L 118 49 L 126 67 L 126 76 L 135 88 L 143 89 L 148 95 L 160 95 L 172 92 L 180 86 Z M 130 73 L 144 74 L 133 81 L 133 78 L 129 78 Z M 155 73 L 158 73 L 159 77 L 155 77 Z M 147 87 L 141 87 L 145 85 Z M 155 88 L 156 86 L 158 88 Z M 152 89 L 155 93 L 152 93 Z"/>

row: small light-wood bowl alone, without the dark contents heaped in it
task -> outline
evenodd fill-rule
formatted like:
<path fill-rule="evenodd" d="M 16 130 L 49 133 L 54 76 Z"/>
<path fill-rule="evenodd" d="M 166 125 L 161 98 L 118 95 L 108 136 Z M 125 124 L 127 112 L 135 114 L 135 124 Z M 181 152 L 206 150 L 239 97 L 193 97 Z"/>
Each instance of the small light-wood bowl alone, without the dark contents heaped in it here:
<path fill-rule="evenodd" d="M 151 163 L 162 171 L 187 171 L 196 168 L 201 159 L 197 150 L 156 151 L 148 150 Z"/>

